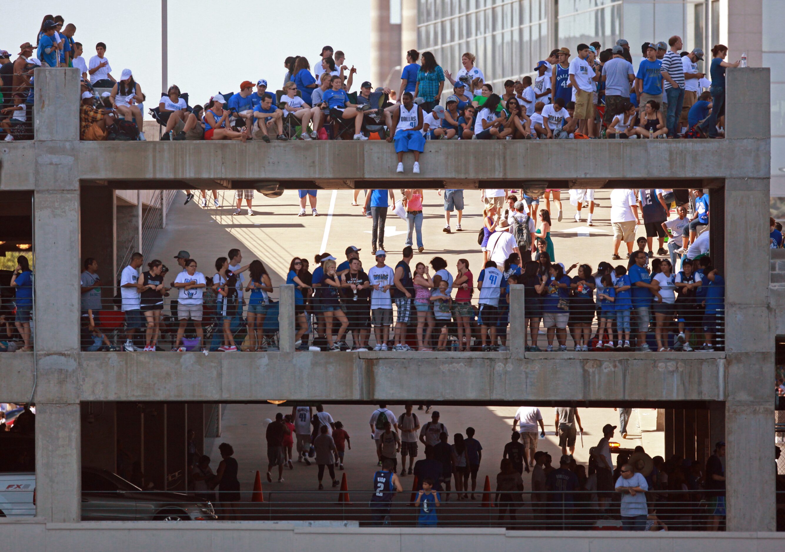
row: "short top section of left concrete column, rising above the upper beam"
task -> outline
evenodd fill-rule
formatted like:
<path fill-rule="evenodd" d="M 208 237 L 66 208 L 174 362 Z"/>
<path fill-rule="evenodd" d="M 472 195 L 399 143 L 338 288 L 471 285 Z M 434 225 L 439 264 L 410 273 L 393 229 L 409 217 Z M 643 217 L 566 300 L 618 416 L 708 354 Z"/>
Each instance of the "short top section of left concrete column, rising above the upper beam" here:
<path fill-rule="evenodd" d="M 40 68 L 34 76 L 35 140 L 79 140 L 79 69 Z"/>

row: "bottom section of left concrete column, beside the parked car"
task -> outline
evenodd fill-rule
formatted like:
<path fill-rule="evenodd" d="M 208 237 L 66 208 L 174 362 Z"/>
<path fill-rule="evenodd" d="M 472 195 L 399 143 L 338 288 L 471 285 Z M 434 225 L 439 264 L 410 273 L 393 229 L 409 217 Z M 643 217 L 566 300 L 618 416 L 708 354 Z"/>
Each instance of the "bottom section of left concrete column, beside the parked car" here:
<path fill-rule="evenodd" d="M 38 403 L 35 411 L 36 517 L 79 521 L 82 510 L 78 403 Z"/>

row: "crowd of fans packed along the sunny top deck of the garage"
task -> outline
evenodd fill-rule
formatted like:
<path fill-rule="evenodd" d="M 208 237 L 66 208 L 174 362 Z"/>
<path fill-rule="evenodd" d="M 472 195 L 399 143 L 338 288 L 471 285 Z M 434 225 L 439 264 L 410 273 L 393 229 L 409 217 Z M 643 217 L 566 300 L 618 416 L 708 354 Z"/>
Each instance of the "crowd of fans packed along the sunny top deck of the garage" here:
<path fill-rule="evenodd" d="M 23 44 L 12 67 L 2 68 L 10 55 L 0 51 L 5 115 L 0 126 L 6 140 L 20 136 L 16 127 L 28 120 L 36 67 L 81 71 L 83 140 L 145 139 L 145 95 L 132 69 L 115 79 L 105 42 L 97 43 L 96 55 L 86 62 L 75 31 L 62 16 L 46 15 L 37 46 Z M 685 49 L 674 35 L 667 42 L 645 42 L 636 69 L 623 38 L 605 49 L 600 42 L 581 43 L 575 53 L 567 46 L 553 49 L 532 75 L 509 79 L 503 91 L 494 91 L 473 53 L 462 55 L 454 78 L 433 53 L 411 49 L 400 86 L 374 87 L 364 80 L 352 91 L 356 69 L 344 52 L 324 46 L 317 60 L 287 57 L 279 89 L 268 90 L 265 78 L 244 80 L 238 92 L 216 93 L 192 106 L 173 85 L 151 112 L 163 127 L 163 140 L 386 139 L 395 143 L 400 161 L 403 153 L 414 152 L 417 173 L 425 139 L 720 137 L 725 69 L 741 62 L 726 61 L 722 44 L 711 53 L 704 60 L 702 49 Z M 699 70 L 700 62 L 708 67 Z M 403 172 L 402 164 L 397 172 Z"/>

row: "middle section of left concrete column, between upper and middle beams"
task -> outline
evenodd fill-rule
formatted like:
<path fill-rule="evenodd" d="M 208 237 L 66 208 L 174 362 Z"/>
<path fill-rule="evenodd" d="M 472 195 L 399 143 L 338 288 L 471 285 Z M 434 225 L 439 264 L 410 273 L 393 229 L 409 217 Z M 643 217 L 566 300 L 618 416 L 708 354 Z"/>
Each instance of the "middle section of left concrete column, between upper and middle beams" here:
<path fill-rule="evenodd" d="M 60 180 L 53 174 L 53 184 Z M 68 173 L 63 175 L 68 178 Z M 35 343 L 38 353 L 79 350 L 79 185 L 35 192 Z M 75 361 L 57 366 L 75 370 Z"/>

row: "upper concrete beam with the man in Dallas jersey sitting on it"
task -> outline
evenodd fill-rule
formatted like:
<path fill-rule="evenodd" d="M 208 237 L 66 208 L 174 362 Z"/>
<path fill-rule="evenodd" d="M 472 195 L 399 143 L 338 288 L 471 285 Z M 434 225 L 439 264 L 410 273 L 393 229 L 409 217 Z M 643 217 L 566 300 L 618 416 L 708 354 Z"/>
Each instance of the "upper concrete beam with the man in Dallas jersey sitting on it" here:
<path fill-rule="evenodd" d="M 451 186 L 475 187 L 478 181 L 577 179 L 583 181 L 576 182 L 577 187 L 591 188 L 600 187 L 611 177 L 768 178 L 770 141 L 429 141 L 422 154 L 422 173 L 417 175 L 411 174 L 408 158 L 404 162 L 408 172 L 396 174 L 394 150 L 385 141 L 73 141 L 58 142 L 57 148 L 57 164 L 78 166 L 82 180 L 115 181 L 120 187 L 155 188 L 154 181 L 159 181 L 164 187 L 177 188 L 177 181 L 190 181 L 192 188 L 210 188 L 215 186 L 214 179 L 317 181 L 321 188 L 349 188 L 356 180 L 385 184 L 447 180 L 453 181 Z M 0 189 L 35 189 L 31 167 L 35 159 L 52 158 L 54 151 L 51 144 L 42 141 L 0 146 Z M 554 166 L 550 159 L 556 156 L 560 163 Z M 637 162 L 609 166 L 607 159 Z M 39 186 L 46 187 L 46 180 Z"/>

